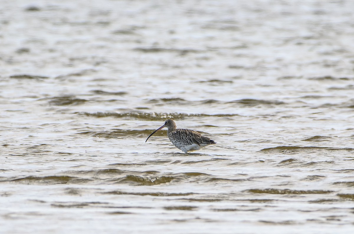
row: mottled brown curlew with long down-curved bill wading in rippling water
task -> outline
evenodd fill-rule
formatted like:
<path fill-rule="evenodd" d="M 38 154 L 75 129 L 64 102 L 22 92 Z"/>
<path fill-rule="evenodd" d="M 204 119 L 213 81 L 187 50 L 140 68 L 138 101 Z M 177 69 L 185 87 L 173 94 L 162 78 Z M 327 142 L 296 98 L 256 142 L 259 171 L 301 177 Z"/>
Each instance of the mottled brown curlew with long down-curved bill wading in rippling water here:
<path fill-rule="evenodd" d="M 207 145 L 216 144 L 215 141 L 207 138 L 206 136 L 202 136 L 197 131 L 177 129 L 176 122 L 172 119 L 167 119 L 165 124 L 156 129 L 152 134 L 150 134 L 150 136 L 165 127 L 167 128 L 167 136 L 172 144 L 184 153 L 187 153 L 188 151 L 200 150 Z M 148 141 L 150 136 L 148 136 L 145 142 Z"/>

